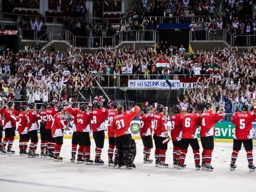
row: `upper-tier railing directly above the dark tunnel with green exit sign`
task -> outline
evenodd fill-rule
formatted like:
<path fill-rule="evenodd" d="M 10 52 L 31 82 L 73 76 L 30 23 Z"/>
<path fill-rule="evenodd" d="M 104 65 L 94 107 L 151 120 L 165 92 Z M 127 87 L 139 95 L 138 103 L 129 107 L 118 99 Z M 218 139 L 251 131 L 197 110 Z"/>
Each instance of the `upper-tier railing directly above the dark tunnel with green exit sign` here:
<path fill-rule="evenodd" d="M 200 19 L 208 20 L 210 16 L 161 16 L 161 17 L 144 17 L 144 20 L 151 22 L 154 21 L 155 23 L 191 23 L 191 22 L 197 22 Z"/>

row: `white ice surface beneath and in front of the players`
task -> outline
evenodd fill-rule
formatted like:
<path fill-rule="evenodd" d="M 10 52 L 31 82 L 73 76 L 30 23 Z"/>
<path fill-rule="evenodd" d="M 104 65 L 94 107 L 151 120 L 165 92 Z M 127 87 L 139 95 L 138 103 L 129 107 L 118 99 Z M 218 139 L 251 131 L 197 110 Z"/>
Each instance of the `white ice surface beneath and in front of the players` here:
<path fill-rule="evenodd" d="M 95 144 L 94 140 L 91 142 L 91 159 L 94 160 Z M 108 166 L 107 139 L 102 150 L 103 166 L 70 162 L 71 139 L 64 139 L 60 152 L 65 158 L 63 162 L 19 156 L 18 140 L 14 140 L 16 154 L 0 154 L 0 189 L 2 192 L 244 192 L 255 188 L 256 172 L 249 172 L 243 148 L 238 154 L 236 170 L 230 171 L 232 143 L 215 142 L 213 172 L 196 171 L 190 147 L 185 160 L 187 168 L 173 168 L 171 142 L 166 153 L 169 168 L 156 168 L 154 163 L 144 164 L 142 140 L 136 140 L 136 143 L 136 168 L 124 170 Z M 38 146 L 37 152 L 40 153 L 40 143 Z M 154 148 L 150 158 L 154 159 Z"/>

